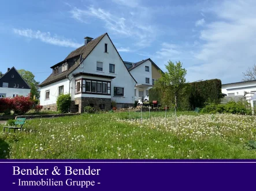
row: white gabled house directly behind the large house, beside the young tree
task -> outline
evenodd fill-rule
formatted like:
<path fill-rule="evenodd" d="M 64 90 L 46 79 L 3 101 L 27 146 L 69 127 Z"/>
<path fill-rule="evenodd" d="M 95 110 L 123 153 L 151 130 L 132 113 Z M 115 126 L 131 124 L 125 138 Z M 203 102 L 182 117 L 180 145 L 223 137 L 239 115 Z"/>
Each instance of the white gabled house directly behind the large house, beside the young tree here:
<path fill-rule="evenodd" d="M 149 94 L 149 89 L 154 86 L 155 81 L 161 77 L 162 70 L 150 58 L 140 62 L 124 62 L 137 83 L 134 88 L 135 100 Z M 148 100 L 149 101 L 149 100 Z"/>

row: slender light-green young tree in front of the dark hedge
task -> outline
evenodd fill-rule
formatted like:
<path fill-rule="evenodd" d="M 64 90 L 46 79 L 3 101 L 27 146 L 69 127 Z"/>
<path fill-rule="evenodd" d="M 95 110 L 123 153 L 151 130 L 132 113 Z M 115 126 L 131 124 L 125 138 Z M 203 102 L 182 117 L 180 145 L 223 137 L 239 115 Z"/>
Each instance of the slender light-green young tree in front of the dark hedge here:
<path fill-rule="evenodd" d="M 187 70 L 182 68 L 180 61 L 176 63 L 169 61 L 165 68 L 167 72 L 161 74 L 161 78 L 157 81 L 157 86 L 162 89 L 165 100 L 174 98 L 175 108 L 177 109 L 178 94 L 183 91 Z"/>

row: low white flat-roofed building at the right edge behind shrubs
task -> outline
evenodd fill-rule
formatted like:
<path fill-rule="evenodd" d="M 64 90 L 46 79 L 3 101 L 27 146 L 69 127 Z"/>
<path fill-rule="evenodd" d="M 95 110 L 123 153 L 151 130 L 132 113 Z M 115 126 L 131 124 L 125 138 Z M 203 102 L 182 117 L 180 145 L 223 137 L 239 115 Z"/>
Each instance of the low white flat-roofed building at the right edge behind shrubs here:
<path fill-rule="evenodd" d="M 240 101 L 245 98 L 247 102 L 252 104 L 251 97 L 256 93 L 256 80 L 222 84 L 221 91 L 222 94 L 227 95 L 222 98 L 221 103 L 227 103 L 231 100 Z"/>

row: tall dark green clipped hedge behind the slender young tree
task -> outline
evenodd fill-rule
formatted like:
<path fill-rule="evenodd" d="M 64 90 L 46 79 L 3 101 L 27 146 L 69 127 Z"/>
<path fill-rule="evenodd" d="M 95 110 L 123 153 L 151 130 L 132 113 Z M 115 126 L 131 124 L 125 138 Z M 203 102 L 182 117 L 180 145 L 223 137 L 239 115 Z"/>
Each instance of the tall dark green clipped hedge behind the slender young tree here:
<path fill-rule="evenodd" d="M 149 100 L 157 100 L 162 104 L 161 89 L 151 88 L 149 90 Z M 178 96 L 178 108 L 182 110 L 194 110 L 203 108 L 207 102 L 219 104 L 221 98 L 221 81 L 220 79 L 211 79 L 201 82 L 186 83 L 183 93 Z M 173 97 L 170 94 L 170 100 Z M 170 101 L 172 102 L 172 101 Z"/>

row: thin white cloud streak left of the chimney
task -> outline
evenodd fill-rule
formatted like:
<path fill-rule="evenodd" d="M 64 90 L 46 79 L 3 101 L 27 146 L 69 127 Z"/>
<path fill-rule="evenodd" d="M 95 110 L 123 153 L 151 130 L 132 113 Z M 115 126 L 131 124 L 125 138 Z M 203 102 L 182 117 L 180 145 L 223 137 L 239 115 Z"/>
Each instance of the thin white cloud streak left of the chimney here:
<path fill-rule="evenodd" d="M 38 39 L 43 43 L 58 45 L 61 47 L 72 47 L 77 48 L 83 44 L 75 43 L 70 39 L 65 39 L 64 37 L 51 36 L 50 32 L 41 32 L 40 30 L 31 30 L 31 29 L 13 29 L 13 32 L 19 36 L 24 36 L 29 39 Z"/>

